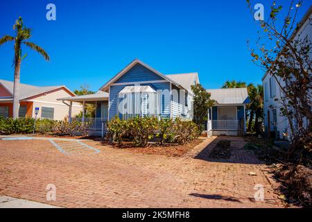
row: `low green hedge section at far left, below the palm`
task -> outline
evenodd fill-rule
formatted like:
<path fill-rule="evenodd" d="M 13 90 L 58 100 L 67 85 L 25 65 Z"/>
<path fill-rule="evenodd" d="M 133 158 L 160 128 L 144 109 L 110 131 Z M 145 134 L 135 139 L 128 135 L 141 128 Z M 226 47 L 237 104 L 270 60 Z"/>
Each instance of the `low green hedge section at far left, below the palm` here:
<path fill-rule="evenodd" d="M 4 119 L 0 117 L 0 133 L 33 133 L 34 119 L 21 118 L 21 119 Z"/>

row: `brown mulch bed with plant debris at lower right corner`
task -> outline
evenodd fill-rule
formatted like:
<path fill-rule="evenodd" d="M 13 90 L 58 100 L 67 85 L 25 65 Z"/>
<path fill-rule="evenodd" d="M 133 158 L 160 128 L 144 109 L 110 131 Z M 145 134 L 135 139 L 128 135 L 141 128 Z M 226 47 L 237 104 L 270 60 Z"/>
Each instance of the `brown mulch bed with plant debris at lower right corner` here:
<path fill-rule="evenodd" d="M 287 160 L 287 149 L 283 146 L 268 146 L 266 139 L 250 137 L 245 149 L 268 164 L 270 173 L 279 182 L 275 194 L 284 200 L 286 207 L 312 208 L 312 169 Z"/>

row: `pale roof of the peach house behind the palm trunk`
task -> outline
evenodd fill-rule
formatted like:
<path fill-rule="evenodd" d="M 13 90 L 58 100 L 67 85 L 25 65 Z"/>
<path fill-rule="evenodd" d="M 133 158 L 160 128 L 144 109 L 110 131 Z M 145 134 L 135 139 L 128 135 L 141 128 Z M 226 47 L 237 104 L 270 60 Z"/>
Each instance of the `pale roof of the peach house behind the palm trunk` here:
<path fill-rule="evenodd" d="M 10 94 L 13 96 L 13 88 L 14 88 L 14 82 L 8 81 L 8 80 L 2 80 L 0 79 L 0 85 L 2 85 Z M 26 99 L 31 96 L 36 96 L 38 94 L 42 94 L 45 92 L 50 92 L 53 89 L 59 89 L 61 87 L 65 87 L 64 85 L 56 85 L 56 86 L 35 86 L 35 85 L 27 85 L 24 83 L 19 83 L 19 99 Z M 72 95 L 75 95 L 71 90 L 67 89 Z"/>

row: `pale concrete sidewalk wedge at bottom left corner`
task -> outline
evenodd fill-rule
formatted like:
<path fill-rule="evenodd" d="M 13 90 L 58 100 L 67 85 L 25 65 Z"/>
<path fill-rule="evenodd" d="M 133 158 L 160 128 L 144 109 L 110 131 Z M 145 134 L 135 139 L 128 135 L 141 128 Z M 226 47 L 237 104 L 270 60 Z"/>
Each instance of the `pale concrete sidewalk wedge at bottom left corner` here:
<path fill-rule="evenodd" d="M 31 200 L 0 196 L 0 208 L 60 208 Z"/>

